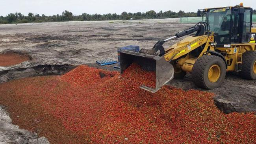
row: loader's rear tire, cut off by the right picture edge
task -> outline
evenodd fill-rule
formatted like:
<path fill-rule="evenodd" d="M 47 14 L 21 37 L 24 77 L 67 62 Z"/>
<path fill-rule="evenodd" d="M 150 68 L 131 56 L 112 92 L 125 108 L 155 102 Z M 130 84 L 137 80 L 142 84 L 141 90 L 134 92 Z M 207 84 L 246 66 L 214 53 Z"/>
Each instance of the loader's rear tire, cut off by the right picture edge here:
<path fill-rule="evenodd" d="M 247 51 L 242 55 L 242 78 L 256 79 L 256 51 Z"/>

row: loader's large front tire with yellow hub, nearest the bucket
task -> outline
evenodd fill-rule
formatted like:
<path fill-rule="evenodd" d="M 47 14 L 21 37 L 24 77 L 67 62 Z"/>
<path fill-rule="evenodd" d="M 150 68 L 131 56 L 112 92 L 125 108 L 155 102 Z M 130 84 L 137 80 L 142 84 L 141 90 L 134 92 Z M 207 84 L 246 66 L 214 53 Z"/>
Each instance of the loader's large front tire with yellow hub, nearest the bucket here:
<path fill-rule="evenodd" d="M 203 89 L 219 87 L 226 76 L 226 64 L 221 57 L 203 55 L 195 62 L 192 69 L 193 82 Z"/>

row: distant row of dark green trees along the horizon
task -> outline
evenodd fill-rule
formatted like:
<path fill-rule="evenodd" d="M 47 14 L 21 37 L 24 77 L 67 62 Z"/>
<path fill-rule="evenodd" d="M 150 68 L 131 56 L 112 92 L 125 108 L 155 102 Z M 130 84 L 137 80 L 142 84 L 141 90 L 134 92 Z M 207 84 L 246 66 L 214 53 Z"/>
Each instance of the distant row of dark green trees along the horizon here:
<path fill-rule="evenodd" d="M 253 10 L 256 14 L 256 10 Z M 28 13 L 28 15 L 23 15 L 22 13 L 9 13 L 6 17 L 0 16 L 0 24 L 13 24 L 13 23 L 28 23 L 28 22 L 61 22 L 61 21 L 90 21 L 90 20 L 129 20 L 133 19 L 154 19 L 154 18 L 175 18 L 175 17 L 196 17 L 197 13 L 184 11 L 179 11 L 178 13 L 174 11 L 156 11 L 151 10 L 146 13 L 127 13 L 122 12 L 121 15 L 116 13 L 108 13 L 104 15 L 83 13 L 82 15 L 73 15 L 72 12 L 63 11 L 61 15 L 46 16 L 44 14 L 34 14 Z"/>

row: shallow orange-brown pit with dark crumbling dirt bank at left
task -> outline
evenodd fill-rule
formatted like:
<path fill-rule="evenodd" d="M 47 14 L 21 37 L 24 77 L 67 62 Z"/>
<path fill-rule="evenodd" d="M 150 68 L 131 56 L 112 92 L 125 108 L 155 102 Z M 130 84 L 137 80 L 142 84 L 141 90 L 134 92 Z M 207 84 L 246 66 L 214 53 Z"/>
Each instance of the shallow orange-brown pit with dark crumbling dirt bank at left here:
<path fill-rule="evenodd" d="M 37 63 L 25 51 L 5 50 L 0 53 L 0 83 L 32 76 L 61 75 L 75 66 L 68 63 Z"/>

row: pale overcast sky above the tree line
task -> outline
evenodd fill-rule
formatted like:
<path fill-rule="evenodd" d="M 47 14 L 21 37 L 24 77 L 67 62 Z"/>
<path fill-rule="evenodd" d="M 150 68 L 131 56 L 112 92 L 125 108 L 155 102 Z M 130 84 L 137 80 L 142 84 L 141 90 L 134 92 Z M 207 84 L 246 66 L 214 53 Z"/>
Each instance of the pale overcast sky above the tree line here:
<path fill-rule="evenodd" d="M 40 15 L 56 15 L 71 11 L 74 15 L 82 13 L 106 14 L 126 12 L 156 12 L 183 10 L 196 12 L 200 8 L 235 6 L 243 2 L 244 6 L 256 9 L 256 0 L 0 0 L 0 15 L 29 12 Z"/>

